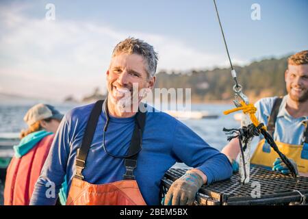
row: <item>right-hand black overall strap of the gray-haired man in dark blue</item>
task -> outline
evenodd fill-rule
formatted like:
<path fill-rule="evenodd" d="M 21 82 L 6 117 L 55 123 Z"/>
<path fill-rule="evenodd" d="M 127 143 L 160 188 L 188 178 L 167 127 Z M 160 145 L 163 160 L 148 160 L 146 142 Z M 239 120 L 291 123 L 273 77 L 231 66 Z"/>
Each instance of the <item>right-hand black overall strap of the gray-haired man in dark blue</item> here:
<path fill-rule="evenodd" d="M 142 149 L 142 134 L 144 131 L 145 120 L 146 120 L 146 112 L 138 111 L 136 114 L 135 128 L 133 129 L 133 136 L 131 138 L 131 144 L 129 146 L 129 153 L 128 153 L 128 156 L 129 155 L 133 156 L 125 158 L 124 160 L 126 172 L 123 175 L 123 179 L 135 179 L 135 176 L 133 175 L 133 170 L 137 167 L 137 157 L 138 157 L 137 152 Z"/>

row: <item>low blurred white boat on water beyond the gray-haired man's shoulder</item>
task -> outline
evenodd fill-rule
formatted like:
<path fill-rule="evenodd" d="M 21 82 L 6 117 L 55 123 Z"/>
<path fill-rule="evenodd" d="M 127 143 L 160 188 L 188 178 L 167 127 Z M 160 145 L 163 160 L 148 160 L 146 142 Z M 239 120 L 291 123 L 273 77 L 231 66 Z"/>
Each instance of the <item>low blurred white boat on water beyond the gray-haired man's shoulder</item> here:
<path fill-rule="evenodd" d="M 175 118 L 181 119 L 202 119 L 202 118 L 218 118 L 216 114 L 209 114 L 207 111 L 177 111 L 177 110 L 166 110 L 166 114 Z"/>

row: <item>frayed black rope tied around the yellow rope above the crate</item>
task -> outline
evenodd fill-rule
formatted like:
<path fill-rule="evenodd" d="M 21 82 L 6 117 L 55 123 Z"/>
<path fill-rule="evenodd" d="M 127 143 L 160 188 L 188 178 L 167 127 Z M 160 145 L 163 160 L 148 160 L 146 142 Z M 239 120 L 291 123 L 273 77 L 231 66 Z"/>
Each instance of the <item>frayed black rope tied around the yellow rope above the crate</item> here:
<path fill-rule="evenodd" d="M 272 149 L 274 149 L 274 151 L 279 155 L 283 163 L 290 170 L 292 176 L 296 178 L 296 170 L 294 166 L 291 164 L 290 160 L 287 159 L 287 157 L 283 153 L 281 153 L 281 151 L 279 151 L 277 144 L 272 139 L 272 136 L 270 136 L 270 134 L 265 129 L 262 129 L 262 127 L 264 127 L 263 123 L 260 123 L 257 127 L 255 127 L 255 125 L 251 123 L 250 125 L 248 125 L 248 127 L 244 126 L 241 129 L 225 129 L 224 128 L 223 131 L 227 132 L 226 134 L 229 135 L 227 137 L 228 141 L 232 140 L 233 138 L 239 138 L 241 153 L 243 157 L 243 164 L 244 164 L 244 151 L 246 150 L 248 141 L 254 136 L 259 136 L 261 134 L 266 139 L 266 142 L 268 142 L 268 144 L 270 144 Z M 242 142 L 244 142 L 244 147 L 242 147 Z M 244 175 L 246 179 L 246 170 L 244 171 Z"/>

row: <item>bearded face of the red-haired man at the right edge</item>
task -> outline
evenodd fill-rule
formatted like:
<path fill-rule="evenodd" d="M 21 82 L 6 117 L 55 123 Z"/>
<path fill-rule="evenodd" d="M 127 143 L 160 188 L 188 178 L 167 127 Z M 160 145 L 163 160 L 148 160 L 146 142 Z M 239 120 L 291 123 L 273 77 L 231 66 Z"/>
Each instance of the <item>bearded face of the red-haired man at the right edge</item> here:
<path fill-rule="evenodd" d="M 285 71 L 287 93 L 296 102 L 308 100 L 308 64 L 289 65 Z"/>

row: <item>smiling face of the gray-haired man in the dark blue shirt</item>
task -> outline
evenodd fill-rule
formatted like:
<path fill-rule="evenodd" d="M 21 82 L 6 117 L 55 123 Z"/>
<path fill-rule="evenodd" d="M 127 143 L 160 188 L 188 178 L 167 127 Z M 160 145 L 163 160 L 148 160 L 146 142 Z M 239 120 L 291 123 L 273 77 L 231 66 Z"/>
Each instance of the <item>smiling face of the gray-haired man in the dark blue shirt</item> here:
<path fill-rule="evenodd" d="M 107 70 L 108 99 L 115 105 L 127 107 L 133 104 L 132 100 L 136 99 L 140 90 L 152 88 L 154 82 L 155 77 L 148 79 L 146 64 L 141 55 L 121 53 L 112 58 Z M 138 101 L 142 99 L 139 96 L 137 98 Z"/>

